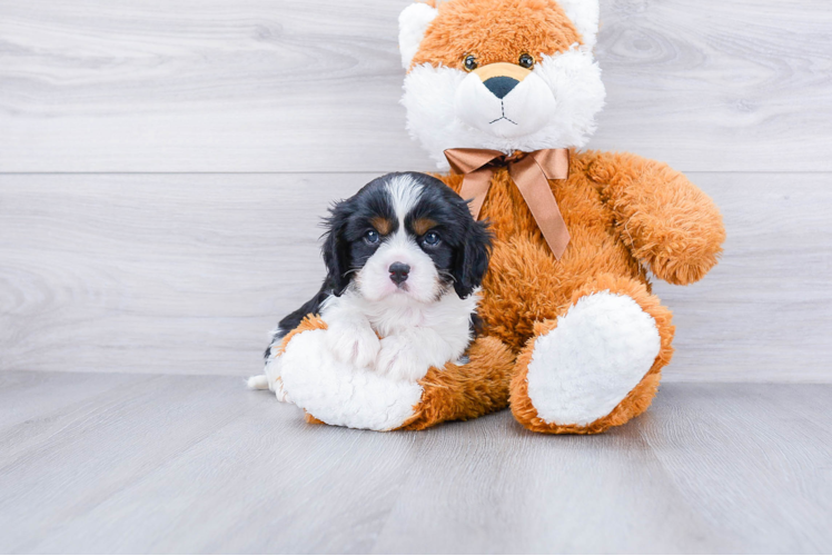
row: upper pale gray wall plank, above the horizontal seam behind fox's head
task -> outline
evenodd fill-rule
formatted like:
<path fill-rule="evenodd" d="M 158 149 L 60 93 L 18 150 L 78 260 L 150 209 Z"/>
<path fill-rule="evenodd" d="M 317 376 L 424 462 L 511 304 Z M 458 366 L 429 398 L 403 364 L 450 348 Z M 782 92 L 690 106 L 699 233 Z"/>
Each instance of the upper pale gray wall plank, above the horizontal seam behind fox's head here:
<path fill-rule="evenodd" d="M 0 3 L 0 171 L 430 169 L 408 0 Z M 602 0 L 592 147 L 684 171 L 832 171 L 825 0 Z"/>

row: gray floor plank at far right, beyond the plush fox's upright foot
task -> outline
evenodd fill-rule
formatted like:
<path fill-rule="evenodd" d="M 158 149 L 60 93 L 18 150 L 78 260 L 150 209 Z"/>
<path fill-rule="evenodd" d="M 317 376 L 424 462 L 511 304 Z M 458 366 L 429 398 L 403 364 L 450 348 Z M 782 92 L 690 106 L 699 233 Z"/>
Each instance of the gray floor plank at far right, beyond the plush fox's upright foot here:
<path fill-rule="evenodd" d="M 829 386 L 690 385 L 660 395 L 660 409 L 638 421 L 642 435 L 714 534 L 742 539 L 745 554 L 832 550 Z"/>

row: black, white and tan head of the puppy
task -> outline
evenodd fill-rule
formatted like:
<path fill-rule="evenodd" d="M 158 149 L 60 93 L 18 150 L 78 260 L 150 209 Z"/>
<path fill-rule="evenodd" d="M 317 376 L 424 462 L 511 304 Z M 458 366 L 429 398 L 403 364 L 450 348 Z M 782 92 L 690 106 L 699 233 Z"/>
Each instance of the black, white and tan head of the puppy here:
<path fill-rule="evenodd" d="M 464 298 L 488 266 L 486 225 L 424 173 L 370 181 L 331 208 L 327 226 L 324 261 L 336 296 L 349 287 L 370 301 L 432 302 L 450 291 Z"/>

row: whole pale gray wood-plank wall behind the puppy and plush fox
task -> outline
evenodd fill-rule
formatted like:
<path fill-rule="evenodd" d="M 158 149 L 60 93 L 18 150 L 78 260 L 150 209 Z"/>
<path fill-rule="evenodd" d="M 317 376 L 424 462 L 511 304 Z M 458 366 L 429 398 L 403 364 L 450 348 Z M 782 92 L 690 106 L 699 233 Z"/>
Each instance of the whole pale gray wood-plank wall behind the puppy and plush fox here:
<path fill-rule="evenodd" d="M 402 0 L 0 3 L 0 370 L 246 375 L 388 170 Z M 602 1 L 592 148 L 689 172 L 723 262 L 656 291 L 668 380 L 832 380 L 832 10 Z"/>

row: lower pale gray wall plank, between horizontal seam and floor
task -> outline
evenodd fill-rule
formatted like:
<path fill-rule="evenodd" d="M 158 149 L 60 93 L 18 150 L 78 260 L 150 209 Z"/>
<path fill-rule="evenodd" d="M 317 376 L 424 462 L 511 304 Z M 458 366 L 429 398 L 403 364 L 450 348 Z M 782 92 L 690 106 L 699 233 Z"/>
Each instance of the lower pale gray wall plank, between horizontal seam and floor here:
<path fill-rule="evenodd" d="M 374 175 L 0 176 L 0 369 L 247 376 L 317 291 L 330 199 Z M 725 256 L 655 291 L 667 380 L 832 380 L 828 175 L 694 173 Z"/>

